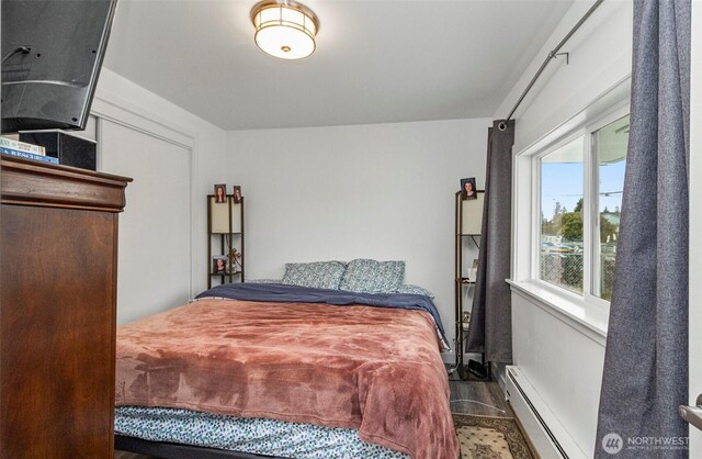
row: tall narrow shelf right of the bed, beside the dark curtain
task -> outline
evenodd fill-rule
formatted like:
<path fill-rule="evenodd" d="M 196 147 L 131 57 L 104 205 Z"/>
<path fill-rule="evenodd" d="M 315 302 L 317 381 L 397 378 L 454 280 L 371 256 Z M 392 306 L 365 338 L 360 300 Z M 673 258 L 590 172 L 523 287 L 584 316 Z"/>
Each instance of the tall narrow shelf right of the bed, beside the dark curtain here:
<path fill-rule="evenodd" d="M 483 224 L 483 200 L 485 193 L 476 192 L 477 198 L 462 199 L 461 191 L 455 194 L 455 352 L 456 370 L 461 379 L 468 378 L 468 368 L 464 363 L 465 335 L 468 332 L 473 294 L 475 292 L 477 260 L 480 249 L 480 231 Z"/>

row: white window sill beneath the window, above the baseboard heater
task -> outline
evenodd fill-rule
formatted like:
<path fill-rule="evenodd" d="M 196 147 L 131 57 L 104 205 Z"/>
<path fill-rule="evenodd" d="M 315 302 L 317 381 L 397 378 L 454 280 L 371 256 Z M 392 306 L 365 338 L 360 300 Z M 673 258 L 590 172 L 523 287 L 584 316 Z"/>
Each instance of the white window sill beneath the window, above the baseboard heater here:
<path fill-rule="evenodd" d="M 609 310 L 588 304 L 580 298 L 557 292 L 534 281 L 508 279 L 512 293 L 519 294 L 552 314 L 566 325 L 602 346 L 607 343 Z"/>

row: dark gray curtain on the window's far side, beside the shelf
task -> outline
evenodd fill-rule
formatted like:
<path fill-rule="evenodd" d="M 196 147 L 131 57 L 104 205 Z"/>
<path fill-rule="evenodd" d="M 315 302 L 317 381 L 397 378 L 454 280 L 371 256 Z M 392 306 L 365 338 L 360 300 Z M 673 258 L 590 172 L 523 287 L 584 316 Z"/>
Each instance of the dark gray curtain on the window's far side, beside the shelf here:
<path fill-rule="evenodd" d="M 512 300 L 509 286 L 514 121 L 488 130 L 485 206 L 478 272 L 466 352 L 485 352 L 486 361 L 512 362 Z"/>

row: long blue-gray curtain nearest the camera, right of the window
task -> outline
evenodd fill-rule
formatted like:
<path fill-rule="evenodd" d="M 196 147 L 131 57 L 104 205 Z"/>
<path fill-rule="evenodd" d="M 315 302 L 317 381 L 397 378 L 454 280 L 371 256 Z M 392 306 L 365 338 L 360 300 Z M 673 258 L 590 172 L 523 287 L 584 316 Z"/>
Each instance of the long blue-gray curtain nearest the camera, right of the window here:
<path fill-rule="evenodd" d="M 688 436 L 677 407 L 688 401 L 690 7 L 634 1 L 631 131 L 597 458 L 688 457 L 687 448 L 665 445 Z M 645 438 L 663 446 L 630 448 Z"/>

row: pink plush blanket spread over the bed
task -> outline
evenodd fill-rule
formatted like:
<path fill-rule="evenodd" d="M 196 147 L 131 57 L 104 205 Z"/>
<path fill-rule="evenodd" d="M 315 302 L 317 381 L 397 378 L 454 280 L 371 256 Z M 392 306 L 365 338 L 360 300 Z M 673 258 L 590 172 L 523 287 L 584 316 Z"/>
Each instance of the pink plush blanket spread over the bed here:
<path fill-rule="evenodd" d="M 358 428 L 416 459 L 457 457 L 422 311 L 205 299 L 121 326 L 116 404 Z"/>

